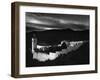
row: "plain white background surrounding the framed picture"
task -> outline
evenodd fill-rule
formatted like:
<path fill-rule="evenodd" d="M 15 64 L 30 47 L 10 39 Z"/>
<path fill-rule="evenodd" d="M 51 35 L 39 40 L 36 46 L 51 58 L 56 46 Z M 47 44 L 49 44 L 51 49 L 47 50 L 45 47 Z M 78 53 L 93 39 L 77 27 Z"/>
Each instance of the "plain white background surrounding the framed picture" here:
<path fill-rule="evenodd" d="M 100 0 L 1 0 L 0 2 L 0 80 L 16 80 L 10 76 L 11 68 L 11 2 L 13 1 L 29 1 L 39 3 L 55 3 L 55 4 L 76 4 L 98 6 L 100 9 Z M 100 14 L 100 10 L 99 13 Z M 98 22 L 100 15 L 98 15 Z M 100 26 L 100 23 L 99 25 Z M 100 27 L 98 27 L 100 28 Z M 99 34 L 100 31 L 98 30 Z M 100 37 L 99 40 L 100 41 Z M 100 42 L 99 42 L 100 43 Z M 99 44 L 98 43 L 98 44 Z M 100 47 L 100 46 L 99 46 Z M 99 49 L 99 48 L 98 48 Z M 99 52 L 100 53 L 100 50 Z M 98 67 L 100 67 L 100 54 L 98 54 Z M 100 68 L 97 74 L 78 74 L 64 75 L 53 77 L 38 77 L 38 78 L 22 78 L 18 80 L 99 80 Z"/>

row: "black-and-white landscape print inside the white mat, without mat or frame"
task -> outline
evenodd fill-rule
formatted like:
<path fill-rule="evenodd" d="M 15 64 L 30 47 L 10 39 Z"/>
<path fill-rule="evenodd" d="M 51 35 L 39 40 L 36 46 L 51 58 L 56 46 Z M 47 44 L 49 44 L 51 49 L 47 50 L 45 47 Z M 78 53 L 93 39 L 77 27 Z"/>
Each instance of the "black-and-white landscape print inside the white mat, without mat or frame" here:
<path fill-rule="evenodd" d="M 89 15 L 26 12 L 26 67 L 89 64 Z"/>

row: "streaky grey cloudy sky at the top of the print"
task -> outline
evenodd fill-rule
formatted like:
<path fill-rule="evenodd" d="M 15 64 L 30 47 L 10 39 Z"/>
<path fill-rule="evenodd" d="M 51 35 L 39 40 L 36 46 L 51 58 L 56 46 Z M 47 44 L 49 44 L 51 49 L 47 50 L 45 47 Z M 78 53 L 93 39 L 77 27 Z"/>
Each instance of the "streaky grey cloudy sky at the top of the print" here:
<path fill-rule="evenodd" d="M 89 29 L 89 15 L 26 13 L 28 30 Z"/>

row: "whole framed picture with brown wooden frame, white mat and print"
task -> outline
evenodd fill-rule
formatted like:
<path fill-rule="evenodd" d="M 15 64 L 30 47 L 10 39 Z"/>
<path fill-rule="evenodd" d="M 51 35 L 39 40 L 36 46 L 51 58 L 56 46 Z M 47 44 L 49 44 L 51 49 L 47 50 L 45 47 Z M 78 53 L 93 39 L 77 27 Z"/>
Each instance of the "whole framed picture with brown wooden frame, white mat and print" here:
<path fill-rule="evenodd" d="M 97 73 L 97 7 L 12 3 L 12 76 Z"/>

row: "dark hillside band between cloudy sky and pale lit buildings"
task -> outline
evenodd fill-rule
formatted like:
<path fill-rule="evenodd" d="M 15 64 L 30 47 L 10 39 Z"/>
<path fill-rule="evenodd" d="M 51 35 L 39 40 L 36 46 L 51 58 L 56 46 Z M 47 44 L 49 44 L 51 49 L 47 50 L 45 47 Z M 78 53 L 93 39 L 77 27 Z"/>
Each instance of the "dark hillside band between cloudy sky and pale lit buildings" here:
<path fill-rule="evenodd" d="M 44 30 L 44 31 L 32 31 L 27 33 L 27 37 L 32 37 L 36 35 L 38 44 L 47 43 L 47 44 L 58 44 L 60 41 L 69 40 L 69 41 L 78 41 L 78 40 L 89 40 L 89 30 L 84 31 L 74 31 L 71 29 L 53 29 L 53 30 Z"/>

